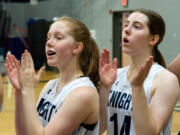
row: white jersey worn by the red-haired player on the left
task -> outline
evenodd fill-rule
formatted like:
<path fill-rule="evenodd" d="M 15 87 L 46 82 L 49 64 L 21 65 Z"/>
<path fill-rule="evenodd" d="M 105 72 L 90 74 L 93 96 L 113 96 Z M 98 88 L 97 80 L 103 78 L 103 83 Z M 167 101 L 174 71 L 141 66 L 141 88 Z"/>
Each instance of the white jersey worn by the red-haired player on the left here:
<path fill-rule="evenodd" d="M 89 86 L 96 90 L 94 84 L 88 77 L 80 77 L 64 86 L 61 90 L 56 91 L 59 80 L 60 78 L 51 80 L 50 84 L 47 86 L 47 89 L 40 95 L 37 112 L 43 127 L 49 123 L 58 109 L 61 109 L 65 98 L 74 89 Z M 98 132 L 99 122 L 94 125 L 81 124 L 72 135 L 98 135 Z"/>

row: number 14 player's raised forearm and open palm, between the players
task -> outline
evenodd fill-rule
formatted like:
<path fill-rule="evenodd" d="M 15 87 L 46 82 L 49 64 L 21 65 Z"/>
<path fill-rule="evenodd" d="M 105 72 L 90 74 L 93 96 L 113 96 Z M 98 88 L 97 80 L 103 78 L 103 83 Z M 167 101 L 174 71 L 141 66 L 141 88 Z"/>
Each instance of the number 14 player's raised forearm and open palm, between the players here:
<path fill-rule="evenodd" d="M 113 67 L 110 64 L 109 51 L 104 49 L 99 61 L 99 75 L 101 80 L 100 87 L 100 135 L 107 128 L 107 103 L 109 92 L 117 76 L 117 59 L 113 61 Z"/>

